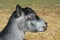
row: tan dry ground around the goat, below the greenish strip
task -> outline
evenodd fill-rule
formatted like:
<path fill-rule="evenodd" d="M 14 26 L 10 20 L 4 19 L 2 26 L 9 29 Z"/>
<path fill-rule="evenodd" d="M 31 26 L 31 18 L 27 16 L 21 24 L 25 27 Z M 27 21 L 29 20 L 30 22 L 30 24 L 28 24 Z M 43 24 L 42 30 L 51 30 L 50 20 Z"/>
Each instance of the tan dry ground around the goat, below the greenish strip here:
<path fill-rule="evenodd" d="M 35 11 L 48 23 L 48 28 L 45 32 L 26 32 L 26 40 L 60 40 L 60 7 L 36 8 Z M 12 12 L 11 10 L 0 10 L 0 31 L 6 26 Z"/>

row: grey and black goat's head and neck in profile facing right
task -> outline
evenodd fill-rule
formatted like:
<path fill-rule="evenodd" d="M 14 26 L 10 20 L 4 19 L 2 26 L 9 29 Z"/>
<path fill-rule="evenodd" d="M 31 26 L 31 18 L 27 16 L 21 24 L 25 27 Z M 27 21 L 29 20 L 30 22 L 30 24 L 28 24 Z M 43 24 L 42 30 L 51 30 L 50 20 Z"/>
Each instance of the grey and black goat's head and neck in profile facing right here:
<path fill-rule="evenodd" d="M 0 33 L 0 40 L 23 40 L 24 33 L 45 31 L 47 23 L 29 7 L 17 5 L 8 24 Z"/>

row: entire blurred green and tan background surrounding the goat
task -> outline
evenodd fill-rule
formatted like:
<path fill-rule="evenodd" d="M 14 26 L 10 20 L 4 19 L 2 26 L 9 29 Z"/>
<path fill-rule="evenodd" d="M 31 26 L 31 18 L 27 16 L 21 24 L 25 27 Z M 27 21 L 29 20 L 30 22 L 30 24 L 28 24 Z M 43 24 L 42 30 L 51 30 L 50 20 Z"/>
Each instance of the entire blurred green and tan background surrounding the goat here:
<path fill-rule="evenodd" d="M 6 26 L 16 4 L 31 7 L 48 23 L 45 32 L 26 32 L 26 40 L 60 40 L 60 0 L 0 0 L 0 31 Z"/>

